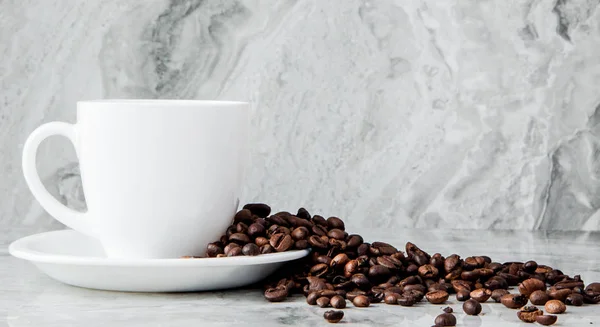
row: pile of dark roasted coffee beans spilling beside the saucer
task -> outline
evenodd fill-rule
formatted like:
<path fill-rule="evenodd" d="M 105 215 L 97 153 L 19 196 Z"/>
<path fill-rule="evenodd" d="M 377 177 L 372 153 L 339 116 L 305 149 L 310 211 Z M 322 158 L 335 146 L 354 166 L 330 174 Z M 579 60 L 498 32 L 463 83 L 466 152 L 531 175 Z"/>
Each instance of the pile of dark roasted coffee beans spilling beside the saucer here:
<path fill-rule="evenodd" d="M 481 312 L 480 303 L 492 300 L 510 309 L 519 309 L 522 321 L 551 325 L 554 314 L 565 305 L 600 302 L 600 283 L 584 285 L 579 275 L 527 262 L 494 262 L 485 255 L 461 257 L 429 254 L 413 243 L 403 249 L 385 242 L 366 242 L 348 234 L 337 217 L 325 219 L 300 208 L 293 214 L 278 212 L 262 203 L 250 203 L 237 212 L 233 224 L 219 241 L 207 247 L 209 257 L 260 255 L 310 248 L 307 257 L 290 262 L 264 283 L 270 302 L 303 294 L 309 305 L 343 309 L 346 301 L 364 308 L 374 303 L 412 306 L 423 300 L 443 304 L 450 296 L 465 302 L 469 315 Z M 517 287 L 517 294 L 508 289 Z M 546 312 L 533 305 L 544 305 Z M 326 311 L 332 323 L 343 318 L 342 311 Z M 452 309 L 435 319 L 436 326 L 454 326 Z"/>

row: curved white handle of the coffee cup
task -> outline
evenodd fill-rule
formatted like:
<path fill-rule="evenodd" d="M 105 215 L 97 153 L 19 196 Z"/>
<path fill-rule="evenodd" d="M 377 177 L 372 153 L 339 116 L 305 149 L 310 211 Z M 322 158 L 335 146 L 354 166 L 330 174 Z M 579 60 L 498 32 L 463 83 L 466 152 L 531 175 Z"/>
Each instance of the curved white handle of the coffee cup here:
<path fill-rule="evenodd" d="M 23 146 L 22 165 L 25 181 L 33 196 L 52 217 L 78 232 L 95 236 L 87 213 L 73 210 L 55 199 L 46 187 L 44 187 L 37 172 L 36 158 L 38 147 L 42 141 L 53 135 L 64 136 L 71 140 L 73 146 L 76 146 L 75 126 L 72 124 L 51 122 L 36 128 L 29 135 Z"/>

